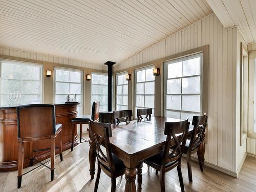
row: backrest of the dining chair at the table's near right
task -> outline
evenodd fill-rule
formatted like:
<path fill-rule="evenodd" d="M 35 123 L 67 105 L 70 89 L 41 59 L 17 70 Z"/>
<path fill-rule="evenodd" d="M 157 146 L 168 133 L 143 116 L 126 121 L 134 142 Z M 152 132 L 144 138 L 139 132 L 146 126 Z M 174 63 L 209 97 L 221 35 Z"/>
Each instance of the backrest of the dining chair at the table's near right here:
<path fill-rule="evenodd" d="M 188 129 L 188 119 L 180 122 L 165 122 L 164 135 L 167 137 L 164 148 L 164 158 L 162 160 L 163 168 L 167 168 L 165 166 L 166 164 L 178 161 L 182 157 L 187 140 Z M 170 148 L 172 149 L 172 152 L 169 151 Z"/>

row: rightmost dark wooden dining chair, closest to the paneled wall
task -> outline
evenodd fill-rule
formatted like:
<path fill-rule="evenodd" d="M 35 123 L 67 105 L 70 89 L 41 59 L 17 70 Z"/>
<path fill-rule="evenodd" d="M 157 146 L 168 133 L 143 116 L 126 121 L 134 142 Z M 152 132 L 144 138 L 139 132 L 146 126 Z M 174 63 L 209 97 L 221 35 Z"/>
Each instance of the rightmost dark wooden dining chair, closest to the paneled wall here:
<path fill-rule="evenodd" d="M 203 163 L 202 163 L 201 155 L 199 152 L 199 146 L 204 139 L 206 123 L 207 123 L 206 113 L 201 116 L 193 117 L 192 125 L 194 126 L 194 128 L 191 133 L 191 137 L 189 137 L 186 141 L 186 145 L 184 149 L 184 153 L 187 154 L 187 172 L 188 172 L 189 182 L 193 182 L 191 162 L 190 162 L 191 154 L 194 154 L 197 152 L 200 170 L 201 172 L 203 172 Z"/>

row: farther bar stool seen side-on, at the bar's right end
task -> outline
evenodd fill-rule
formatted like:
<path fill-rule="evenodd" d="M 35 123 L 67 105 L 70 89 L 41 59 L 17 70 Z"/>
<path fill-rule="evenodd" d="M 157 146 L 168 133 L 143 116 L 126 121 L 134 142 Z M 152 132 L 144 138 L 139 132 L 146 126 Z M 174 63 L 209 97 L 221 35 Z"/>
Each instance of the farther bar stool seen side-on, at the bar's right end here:
<path fill-rule="evenodd" d="M 74 148 L 74 140 L 75 137 L 78 135 L 80 136 L 80 143 L 82 143 L 82 124 L 89 124 L 89 121 L 99 121 L 99 101 L 94 101 L 92 105 L 92 115 L 80 115 L 73 119 L 71 119 L 72 122 L 72 143 L 71 143 L 71 151 L 73 151 Z M 74 136 L 75 134 L 75 127 L 79 124 L 80 132 Z M 87 142 L 86 139 L 83 139 L 84 142 Z"/>

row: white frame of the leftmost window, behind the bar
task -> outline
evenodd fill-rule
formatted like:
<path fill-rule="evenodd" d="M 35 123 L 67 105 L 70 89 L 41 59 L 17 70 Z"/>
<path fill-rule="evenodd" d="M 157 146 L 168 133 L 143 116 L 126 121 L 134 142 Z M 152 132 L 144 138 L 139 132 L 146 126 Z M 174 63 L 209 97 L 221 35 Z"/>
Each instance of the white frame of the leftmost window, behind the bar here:
<path fill-rule="evenodd" d="M 23 77 L 21 79 L 8 79 L 8 78 L 3 78 L 2 77 L 2 63 L 3 62 L 8 62 L 8 63 L 13 63 L 15 65 L 21 65 L 21 66 L 35 66 L 35 67 L 39 67 L 40 69 L 40 78 L 39 80 L 33 80 L 33 79 L 23 79 Z M 44 71 L 44 66 L 39 64 L 39 63 L 32 63 L 32 62 L 25 62 L 25 61 L 16 61 L 16 60 L 9 60 L 9 59 L 0 59 L 0 105 L 2 106 L 2 95 L 7 95 L 7 94 L 2 94 L 2 80 L 6 79 L 6 80 L 20 80 L 22 81 L 39 81 L 41 82 L 41 92 L 40 94 L 23 94 L 22 95 L 40 95 L 41 100 L 40 103 L 43 103 L 44 101 L 44 81 L 43 81 L 43 71 Z M 25 104 L 25 103 L 24 103 Z M 26 103 L 29 104 L 29 103 Z"/>

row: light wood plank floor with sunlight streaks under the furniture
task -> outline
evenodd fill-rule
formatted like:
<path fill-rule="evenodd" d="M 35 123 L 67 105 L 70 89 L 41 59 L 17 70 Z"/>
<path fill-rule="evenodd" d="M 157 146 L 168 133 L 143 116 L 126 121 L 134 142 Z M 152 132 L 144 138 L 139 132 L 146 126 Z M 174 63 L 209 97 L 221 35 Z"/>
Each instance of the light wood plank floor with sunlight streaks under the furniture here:
<path fill-rule="evenodd" d="M 87 134 L 84 135 L 87 137 Z M 50 170 L 41 166 L 23 176 L 22 187 L 17 187 L 17 172 L 0 173 L 0 191 L 93 191 L 96 179 L 90 180 L 89 174 L 89 144 L 81 143 L 73 152 L 63 153 L 63 161 L 55 159 L 55 177 L 50 181 Z M 50 165 L 50 162 L 48 163 Z M 247 157 L 239 177 L 233 178 L 215 169 L 204 166 L 200 172 L 199 165 L 192 163 L 193 183 L 188 182 L 186 161 L 182 162 L 182 174 L 186 191 L 256 191 L 256 159 Z M 34 165 L 38 166 L 38 164 Z M 31 167 L 24 169 L 25 172 Z M 160 174 L 155 175 L 153 169 L 148 172 L 143 166 L 142 191 L 160 191 Z M 124 191 L 125 178 L 117 178 L 116 191 Z M 137 183 L 136 183 L 137 184 Z M 98 191 L 110 191 L 111 180 L 101 172 Z M 171 170 L 165 176 L 166 191 L 180 191 L 177 169 Z"/>

